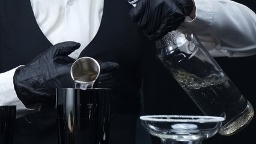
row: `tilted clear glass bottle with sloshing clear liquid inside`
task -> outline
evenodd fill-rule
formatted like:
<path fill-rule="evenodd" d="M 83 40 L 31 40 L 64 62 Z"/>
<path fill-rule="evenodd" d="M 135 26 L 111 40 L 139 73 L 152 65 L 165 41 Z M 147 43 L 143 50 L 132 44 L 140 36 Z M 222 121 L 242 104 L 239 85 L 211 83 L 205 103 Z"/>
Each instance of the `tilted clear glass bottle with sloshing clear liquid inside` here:
<path fill-rule="evenodd" d="M 196 35 L 179 28 L 157 40 L 156 47 L 162 64 L 201 111 L 225 117 L 219 134 L 234 134 L 251 121 L 251 104 Z"/>

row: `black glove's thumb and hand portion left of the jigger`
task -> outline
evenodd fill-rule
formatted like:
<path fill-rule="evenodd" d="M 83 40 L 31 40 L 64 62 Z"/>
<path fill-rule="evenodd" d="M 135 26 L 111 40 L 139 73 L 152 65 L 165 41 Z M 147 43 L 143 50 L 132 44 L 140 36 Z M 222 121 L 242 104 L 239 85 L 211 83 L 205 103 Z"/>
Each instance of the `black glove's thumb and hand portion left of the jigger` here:
<path fill-rule="evenodd" d="M 56 88 L 73 88 L 70 68 L 75 59 L 68 55 L 81 44 L 72 41 L 56 44 L 14 74 L 14 88 L 25 106 L 55 100 Z"/>

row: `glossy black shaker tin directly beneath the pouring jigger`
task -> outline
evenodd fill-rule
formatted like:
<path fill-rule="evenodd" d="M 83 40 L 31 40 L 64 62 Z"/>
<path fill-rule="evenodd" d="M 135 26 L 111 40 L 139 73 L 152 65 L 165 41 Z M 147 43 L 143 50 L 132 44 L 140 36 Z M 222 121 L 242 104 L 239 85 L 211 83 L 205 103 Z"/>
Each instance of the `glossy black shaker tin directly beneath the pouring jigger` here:
<path fill-rule="evenodd" d="M 57 89 L 59 144 L 108 142 L 111 89 Z"/>

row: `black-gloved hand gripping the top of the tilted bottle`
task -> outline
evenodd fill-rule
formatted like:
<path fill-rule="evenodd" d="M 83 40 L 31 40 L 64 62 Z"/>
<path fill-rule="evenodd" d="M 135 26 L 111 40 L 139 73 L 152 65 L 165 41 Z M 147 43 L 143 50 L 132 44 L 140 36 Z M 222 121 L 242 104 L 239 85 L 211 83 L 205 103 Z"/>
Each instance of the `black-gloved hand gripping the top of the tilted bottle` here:
<path fill-rule="evenodd" d="M 177 29 L 193 7 L 192 0 L 139 0 L 130 17 L 150 40 L 158 40 Z"/>

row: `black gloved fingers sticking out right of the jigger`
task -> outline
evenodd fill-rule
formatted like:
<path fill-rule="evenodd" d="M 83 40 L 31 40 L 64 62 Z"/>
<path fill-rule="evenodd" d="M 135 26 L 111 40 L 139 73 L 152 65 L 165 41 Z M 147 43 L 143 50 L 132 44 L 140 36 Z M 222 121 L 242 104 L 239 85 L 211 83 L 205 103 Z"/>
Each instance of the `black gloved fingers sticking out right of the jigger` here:
<path fill-rule="evenodd" d="M 113 85 L 113 72 L 117 70 L 119 65 L 115 62 L 102 62 L 97 61 L 100 65 L 100 74 L 97 79 L 97 87 L 99 88 L 112 88 Z"/>

